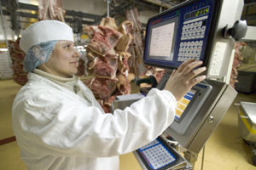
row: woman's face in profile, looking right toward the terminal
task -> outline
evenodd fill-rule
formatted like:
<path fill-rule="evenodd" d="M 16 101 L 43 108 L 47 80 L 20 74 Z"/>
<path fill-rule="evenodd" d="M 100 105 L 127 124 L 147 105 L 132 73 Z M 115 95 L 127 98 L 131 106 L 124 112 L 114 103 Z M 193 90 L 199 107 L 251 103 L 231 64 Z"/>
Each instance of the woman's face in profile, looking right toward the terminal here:
<path fill-rule="evenodd" d="M 74 48 L 73 42 L 60 40 L 43 65 L 50 74 L 58 77 L 73 77 L 78 72 L 79 57 L 80 54 Z"/>

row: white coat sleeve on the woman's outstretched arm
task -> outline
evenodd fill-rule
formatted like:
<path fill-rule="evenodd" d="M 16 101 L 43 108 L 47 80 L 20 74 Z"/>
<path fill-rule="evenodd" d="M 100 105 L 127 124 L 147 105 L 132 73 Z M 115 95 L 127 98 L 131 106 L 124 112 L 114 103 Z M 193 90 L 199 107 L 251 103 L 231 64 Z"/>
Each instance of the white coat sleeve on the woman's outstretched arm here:
<path fill-rule="evenodd" d="M 34 95 L 15 102 L 14 120 L 20 124 L 15 133 L 28 147 L 53 156 L 109 157 L 137 150 L 172 123 L 177 105 L 172 93 L 158 89 L 113 115 L 55 92 Z"/>

